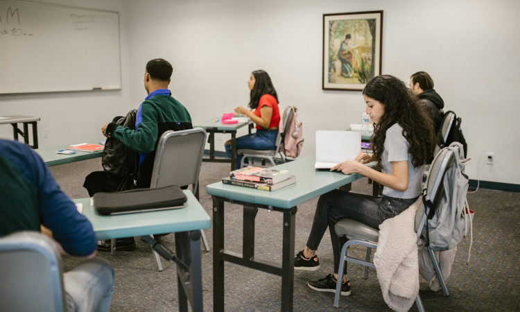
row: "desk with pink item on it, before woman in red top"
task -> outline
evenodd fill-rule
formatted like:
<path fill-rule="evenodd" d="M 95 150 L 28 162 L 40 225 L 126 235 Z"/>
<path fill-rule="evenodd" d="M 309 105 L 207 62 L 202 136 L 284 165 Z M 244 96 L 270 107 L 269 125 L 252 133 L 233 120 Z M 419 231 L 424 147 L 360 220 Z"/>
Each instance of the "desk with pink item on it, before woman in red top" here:
<path fill-rule="evenodd" d="M 209 134 L 209 158 L 203 158 L 202 162 L 231 162 L 231 170 L 236 169 L 236 130 L 248 125 L 249 133 L 251 133 L 253 122 L 239 122 L 239 123 L 222 123 L 220 118 L 209 119 L 201 123 L 195 123 L 193 128 L 202 128 Z M 217 159 L 215 158 L 215 133 L 229 133 L 231 134 L 231 159 Z"/>

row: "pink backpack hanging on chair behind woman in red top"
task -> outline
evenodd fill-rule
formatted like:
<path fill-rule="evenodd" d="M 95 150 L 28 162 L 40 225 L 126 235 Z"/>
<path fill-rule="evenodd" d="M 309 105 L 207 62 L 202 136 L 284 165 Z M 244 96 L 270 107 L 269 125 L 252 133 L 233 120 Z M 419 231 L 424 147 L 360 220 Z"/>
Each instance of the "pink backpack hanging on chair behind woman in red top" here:
<path fill-rule="evenodd" d="M 291 105 L 291 112 L 289 114 L 289 120 L 287 121 L 286 127 L 279 127 L 284 132 L 281 133 L 281 148 L 284 154 L 288 157 L 298 157 L 302 152 L 303 146 L 303 124 L 298 118 L 298 109 L 295 105 Z"/>

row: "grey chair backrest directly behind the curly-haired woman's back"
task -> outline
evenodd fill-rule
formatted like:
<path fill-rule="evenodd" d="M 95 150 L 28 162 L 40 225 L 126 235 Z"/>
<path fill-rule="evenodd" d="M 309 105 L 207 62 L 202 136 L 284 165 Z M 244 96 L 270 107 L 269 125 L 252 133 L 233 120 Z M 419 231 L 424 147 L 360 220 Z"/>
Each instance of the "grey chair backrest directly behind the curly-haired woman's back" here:
<path fill-rule="evenodd" d="M 455 162 L 453 151 L 442 149 L 440 150 L 440 154 L 433 159 L 428 173 L 425 173 L 426 182 L 424 182 L 424 189 L 426 189 L 426 193 L 430 196 L 434 207 L 439 204 L 440 198 L 442 197 L 442 193 L 444 192 L 444 188 L 442 187 L 444 175 L 453 162 Z M 423 202 L 421 202 L 419 209 L 417 209 L 417 214 L 415 215 L 415 232 L 417 232 L 417 239 L 419 239 L 422 234 L 422 229 L 427 220 L 427 216 L 424 213 L 425 209 L 426 207 L 424 207 Z"/>

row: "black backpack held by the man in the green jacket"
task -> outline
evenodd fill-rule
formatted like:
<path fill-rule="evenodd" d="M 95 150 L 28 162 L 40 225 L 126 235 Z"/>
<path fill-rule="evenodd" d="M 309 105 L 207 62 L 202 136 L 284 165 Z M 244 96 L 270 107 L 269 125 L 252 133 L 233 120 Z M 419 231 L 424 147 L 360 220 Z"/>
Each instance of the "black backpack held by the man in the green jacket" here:
<path fill-rule="evenodd" d="M 130 130 L 135 130 L 135 119 L 137 110 L 131 110 L 126 116 L 116 116 L 112 122 L 117 123 Z M 132 189 L 137 180 L 137 168 L 139 155 L 125 146 L 121 141 L 114 137 L 109 137 L 105 141 L 105 148 L 101 155 L 101 165 L 107 175 L 114 180 L 121 180 L 118 191 Z"/>

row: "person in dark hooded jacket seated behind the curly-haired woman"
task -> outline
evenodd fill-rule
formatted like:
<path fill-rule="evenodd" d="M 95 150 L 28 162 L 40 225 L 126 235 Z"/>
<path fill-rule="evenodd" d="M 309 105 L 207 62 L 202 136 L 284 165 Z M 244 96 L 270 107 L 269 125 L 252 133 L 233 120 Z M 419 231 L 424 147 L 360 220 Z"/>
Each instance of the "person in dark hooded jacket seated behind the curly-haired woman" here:
<path fill-rule="evenodd" d="M 439 131 L 442 116 L 444 116 L 444 101 L 435 89 L 433 89 L 433 80 L 425 71 L 417 71 L 410 77 L 410 90 L 413 94 L 422 100 L 426 112 L 433 121 L 433 129 L 435 133 Z"/>

